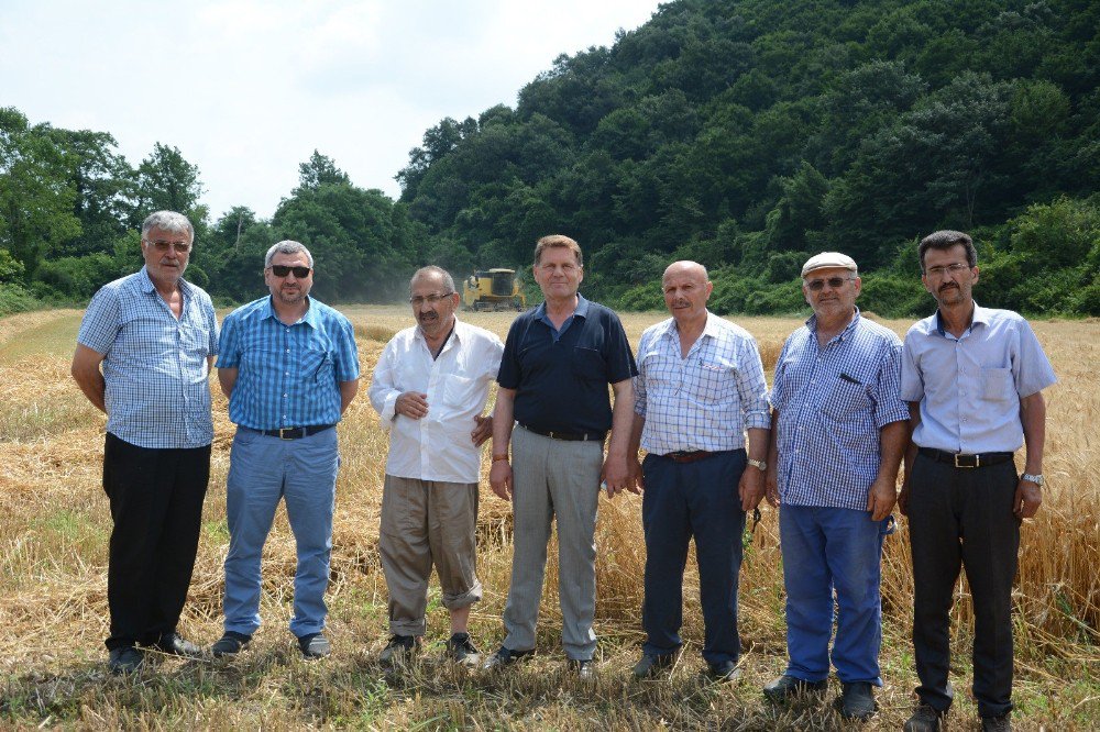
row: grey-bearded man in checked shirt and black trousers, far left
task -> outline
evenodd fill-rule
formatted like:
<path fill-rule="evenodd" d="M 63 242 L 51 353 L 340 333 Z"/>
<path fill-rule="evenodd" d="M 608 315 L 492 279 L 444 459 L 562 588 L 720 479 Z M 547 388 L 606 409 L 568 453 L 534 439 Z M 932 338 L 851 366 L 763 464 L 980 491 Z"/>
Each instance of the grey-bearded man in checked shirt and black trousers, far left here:
<path fill-rule="evenodd" d="M 114 522 L 107 647 L 114 674 L 142 665 L 139 644 L 200 653 L 176 632 L 210 477 L 209 374 L 218 353 L 210 296 L 183 278 L 194 237 L 183 214 L 145 219 L 145 266 L 96 292 L 73 356 L 73 378 L 107 412 L 103 490 Z"/>

